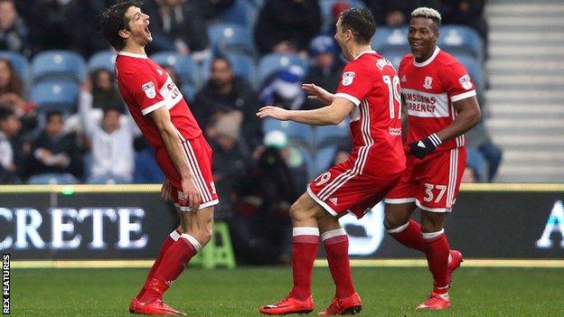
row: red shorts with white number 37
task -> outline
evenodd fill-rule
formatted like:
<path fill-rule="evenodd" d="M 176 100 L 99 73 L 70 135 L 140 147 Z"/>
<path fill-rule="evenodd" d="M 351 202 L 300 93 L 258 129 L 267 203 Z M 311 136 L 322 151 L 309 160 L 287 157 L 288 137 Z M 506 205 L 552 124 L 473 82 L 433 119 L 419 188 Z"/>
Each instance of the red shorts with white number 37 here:
<path fill-rule="evenodd" d="M 408 155 L 408 168 L 384 201 L 415 201 L 422 210 L 450 212 L 455 206 L 465 167 L 465 147 L 428 154 L 422 160 Z"/>

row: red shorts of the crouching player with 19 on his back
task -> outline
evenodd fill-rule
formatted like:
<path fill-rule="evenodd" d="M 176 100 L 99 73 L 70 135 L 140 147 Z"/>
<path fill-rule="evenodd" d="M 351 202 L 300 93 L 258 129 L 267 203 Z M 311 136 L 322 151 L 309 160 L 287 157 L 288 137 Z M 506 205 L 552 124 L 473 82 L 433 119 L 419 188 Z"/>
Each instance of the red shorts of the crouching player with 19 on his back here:
<path fill-rule="evenodd" d="M 401 176 L 398 173 L 390 179 L 376 179 L 353 171 L 353 160 L 335 165 L 310 182 L 307 193 L 335 217 L 351 212 L 361 219 L 386 196 Z"/>

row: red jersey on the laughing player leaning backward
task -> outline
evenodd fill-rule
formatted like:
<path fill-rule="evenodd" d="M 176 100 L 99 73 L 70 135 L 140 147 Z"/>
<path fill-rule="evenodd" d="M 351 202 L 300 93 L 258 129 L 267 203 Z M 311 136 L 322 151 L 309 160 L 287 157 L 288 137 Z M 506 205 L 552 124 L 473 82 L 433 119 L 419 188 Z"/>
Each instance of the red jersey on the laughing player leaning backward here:
<path fill-rule="evenodd" d="M 155 122 L 146 115 L 160 107 L 168 108 L 171 121 L 183 138 L 193 139 L 202 134 L 173 79 L 146 55 L 120 51 L 115 70 L 119 93 L 153 147 L 164 147 L 164 143 Z"/>

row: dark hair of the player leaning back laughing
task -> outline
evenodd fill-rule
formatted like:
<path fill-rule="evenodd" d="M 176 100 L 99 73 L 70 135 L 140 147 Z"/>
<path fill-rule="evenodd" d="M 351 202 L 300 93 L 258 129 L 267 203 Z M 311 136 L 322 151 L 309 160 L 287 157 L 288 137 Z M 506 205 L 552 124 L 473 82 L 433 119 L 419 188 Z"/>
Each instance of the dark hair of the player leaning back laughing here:
<path fill-rule="evenodd" d="M 127 9 L 131 6 L 140 7 L 140 1 L 124 0 L 118 1 L 116 5 L 110 6 L 100 16 L 100 27 L 102 35 L 116 51 L 121 51 L 126 46 L 126 39 L 119 36 L 119 31 L 129 30 L 129 21 L 126 17 Z"/>

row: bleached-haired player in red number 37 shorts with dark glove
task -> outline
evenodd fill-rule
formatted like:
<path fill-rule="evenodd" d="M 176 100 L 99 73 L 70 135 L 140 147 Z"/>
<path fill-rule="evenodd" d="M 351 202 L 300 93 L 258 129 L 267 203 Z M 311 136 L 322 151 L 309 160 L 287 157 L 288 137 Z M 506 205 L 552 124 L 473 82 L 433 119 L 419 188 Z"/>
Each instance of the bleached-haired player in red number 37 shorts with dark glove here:
<path fill-rule="evenodd" d="M 411 54 L 400 63 L 401 95 L 408 112 L 408 168 L 386 196 L 391 237 L 425 253 L 434 287 L 418 310 L 450 307 L 451 275 L 462 254 L 448 247 L 443 228 L 458 196 L 466 164 L 464 133 L 480 120 L 475 87 L 464 66 L 437 47 L 441 16 L 420 7 L 411 13 Z M 409 219 L 421 210 L 421 225 Z"/>

